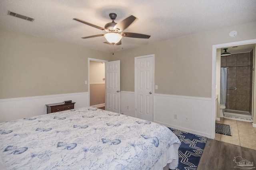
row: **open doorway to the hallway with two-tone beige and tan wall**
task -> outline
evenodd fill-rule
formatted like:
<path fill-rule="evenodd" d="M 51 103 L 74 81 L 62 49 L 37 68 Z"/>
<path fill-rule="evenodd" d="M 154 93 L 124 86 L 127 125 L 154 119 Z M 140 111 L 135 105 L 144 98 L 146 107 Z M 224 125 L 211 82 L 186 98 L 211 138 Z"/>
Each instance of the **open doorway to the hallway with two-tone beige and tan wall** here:
<path fill-rule="evenodd" d="M 105 62 L 88 59 L 89 105 L 99 109 L 105 109 Z"/>

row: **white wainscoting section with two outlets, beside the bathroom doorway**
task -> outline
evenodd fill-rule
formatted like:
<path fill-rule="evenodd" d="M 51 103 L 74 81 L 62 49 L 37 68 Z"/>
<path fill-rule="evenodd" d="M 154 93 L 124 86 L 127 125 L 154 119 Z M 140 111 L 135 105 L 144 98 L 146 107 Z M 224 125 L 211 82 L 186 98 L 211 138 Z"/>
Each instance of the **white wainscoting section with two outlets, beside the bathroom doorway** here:
<path fill-rule="evenodd" d="M 155 94 L 154 101 L 154 122 L 211 137 L 211 98 Z"/>

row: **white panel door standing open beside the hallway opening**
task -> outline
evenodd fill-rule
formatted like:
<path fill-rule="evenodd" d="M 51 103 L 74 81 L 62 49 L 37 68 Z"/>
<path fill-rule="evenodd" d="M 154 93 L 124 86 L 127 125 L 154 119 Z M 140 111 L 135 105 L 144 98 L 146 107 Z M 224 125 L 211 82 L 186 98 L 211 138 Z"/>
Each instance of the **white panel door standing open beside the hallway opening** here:
<path fill-rule="evenodd" d="M 120 60 L 105 63 L 105 110 L 120 113 Z"/>

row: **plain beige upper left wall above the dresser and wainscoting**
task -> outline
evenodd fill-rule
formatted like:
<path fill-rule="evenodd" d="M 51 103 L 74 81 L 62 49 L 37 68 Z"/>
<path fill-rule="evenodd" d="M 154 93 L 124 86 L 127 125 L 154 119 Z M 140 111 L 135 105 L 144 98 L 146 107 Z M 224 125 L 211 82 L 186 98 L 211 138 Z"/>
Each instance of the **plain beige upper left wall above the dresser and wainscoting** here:
<path fill-rule="evenodd" d="M 108 53 L 0 28 L 0 99 L 88 92 L 88 57 Z"/>

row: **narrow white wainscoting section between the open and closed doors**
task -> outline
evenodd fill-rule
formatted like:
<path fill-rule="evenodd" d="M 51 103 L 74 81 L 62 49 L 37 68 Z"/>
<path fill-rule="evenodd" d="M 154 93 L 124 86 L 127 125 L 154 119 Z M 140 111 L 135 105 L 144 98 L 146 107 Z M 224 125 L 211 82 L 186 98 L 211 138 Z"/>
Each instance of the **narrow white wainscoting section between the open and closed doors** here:
<path fill-rule="evenodd" d="M 120 113 L 135 117 L 134 95 L 134 92 L 120 91 Z"/>

